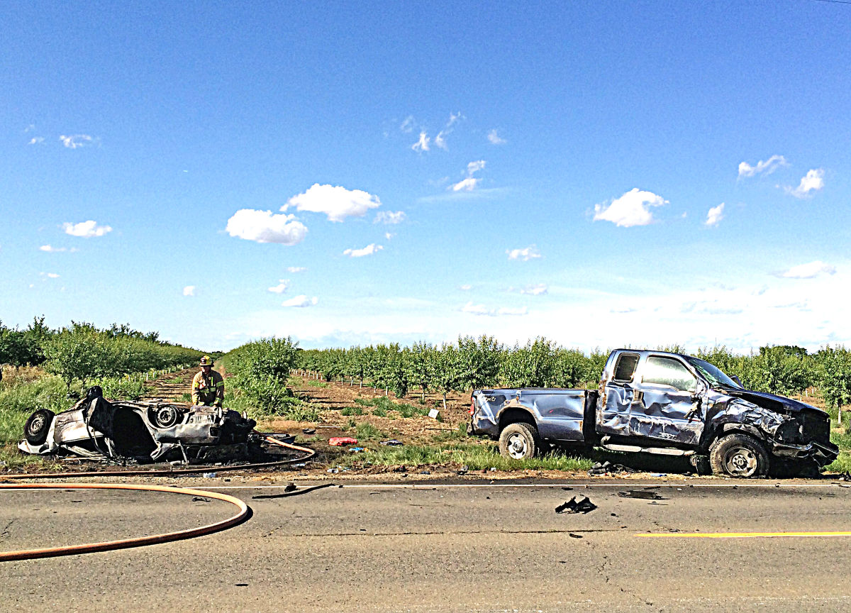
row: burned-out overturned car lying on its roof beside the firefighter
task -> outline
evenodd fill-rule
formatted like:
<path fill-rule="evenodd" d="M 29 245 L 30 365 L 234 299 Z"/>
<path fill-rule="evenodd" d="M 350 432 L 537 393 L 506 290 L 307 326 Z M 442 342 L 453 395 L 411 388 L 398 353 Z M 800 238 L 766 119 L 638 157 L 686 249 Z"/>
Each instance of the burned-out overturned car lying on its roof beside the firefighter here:
<path fill-rule="evenodd" d="M 92 387 L 71 409 L 39 409 L 18 448 L 30 454 L 151 461 L 218 461 L 246 455 L 256 422 L 233 410 L 164 401 L 106 400 Z"/>

